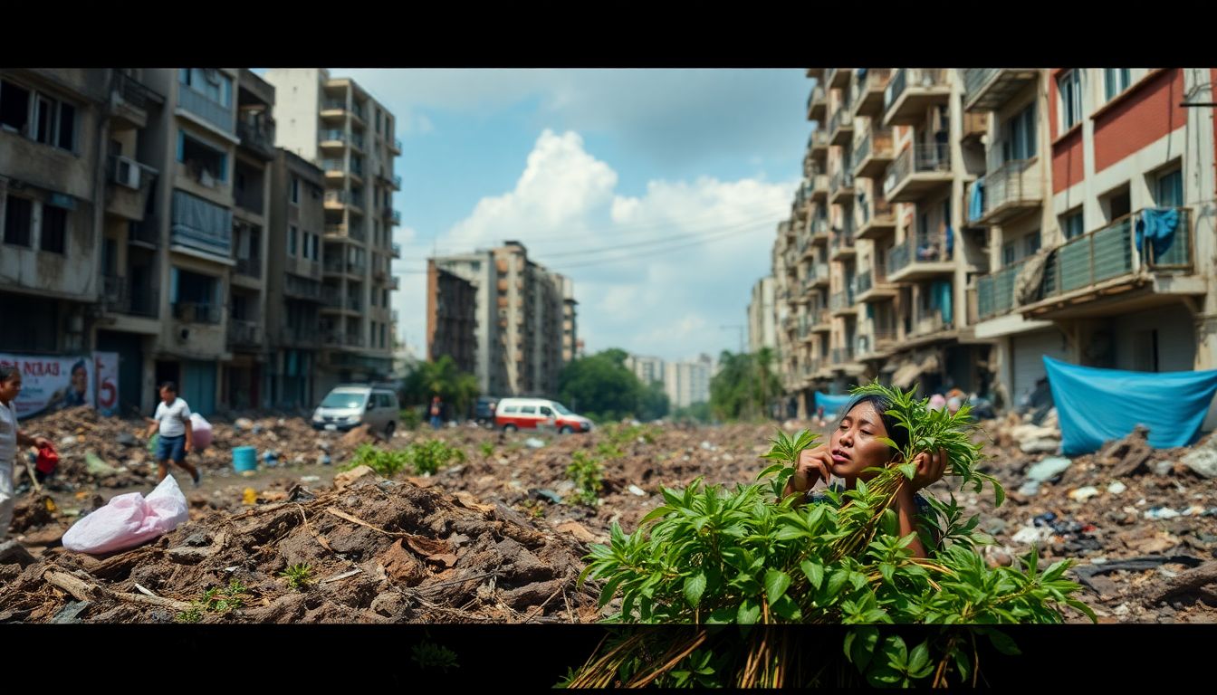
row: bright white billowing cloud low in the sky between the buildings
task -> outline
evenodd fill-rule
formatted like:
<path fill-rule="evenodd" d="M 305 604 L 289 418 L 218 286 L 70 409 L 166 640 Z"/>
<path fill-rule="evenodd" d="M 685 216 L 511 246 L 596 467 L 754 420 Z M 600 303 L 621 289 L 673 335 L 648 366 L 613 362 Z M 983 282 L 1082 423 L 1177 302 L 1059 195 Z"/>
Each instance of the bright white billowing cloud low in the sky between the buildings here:
<path fill-rule="evenodd" d="M 797 181 L 652 180 L 644 195 L 621 196 L 617 180 L 577 133 L 545 130 L 515 187 L 478 201 L 436 246 L 444 254 L 521 241 L 531 259 L 574 280 L 589 353 L 621 347 L 684 359 L 735 351 L 734 326 L 746 321 L 751 287 L 769 271 L 775 226 Z M 415 242 L 405 257 L 430 254 L 430 245 Z M 425 280 L 414 278 L 400 295 L 415 309 L 402 316 L 422 354 Z"/>

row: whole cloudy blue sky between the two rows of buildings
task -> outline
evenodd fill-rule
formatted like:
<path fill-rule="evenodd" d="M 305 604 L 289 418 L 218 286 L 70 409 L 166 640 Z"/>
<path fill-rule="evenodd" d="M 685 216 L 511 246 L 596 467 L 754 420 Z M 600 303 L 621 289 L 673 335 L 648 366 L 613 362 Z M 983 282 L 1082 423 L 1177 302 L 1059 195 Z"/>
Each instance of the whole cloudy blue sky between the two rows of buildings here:
<path fill-rule="evenodd" d="M 507 239 L 574 280 L 588 354 L 739 349 L 801 176 L 801 68 L 330 72 L 398 118 L 393 306 L 415 354 L 426 258 Z"/>

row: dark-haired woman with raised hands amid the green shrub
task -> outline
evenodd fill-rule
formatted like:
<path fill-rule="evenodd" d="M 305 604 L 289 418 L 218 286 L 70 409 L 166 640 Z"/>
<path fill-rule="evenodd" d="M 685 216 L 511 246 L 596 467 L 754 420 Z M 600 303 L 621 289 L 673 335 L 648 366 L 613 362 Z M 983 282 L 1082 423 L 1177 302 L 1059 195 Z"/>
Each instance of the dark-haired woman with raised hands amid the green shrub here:
<path fill-rule="evenodd" d="M 813 495 L 828 487 L 831 476 L 845 481 L 846 489 L 853 489 L 857 481 L 870 481 L 879 469 L 901 459 L 901 453 L 908 449 L 909 433 L 887 414 L 891 409 L 891 400 L 880 393 L 857 398 L 828 443 L 800 453 L 785 494 L 806 494 L 808 499 L 819 501 Z M 901 478 L 892 503 L 902 537 L 916 531 L 919 514 L 924 514 L 925 503 L 916 492 L 942 478 L 948 456 L 944 449 L 938 449 L 936 454 L 922 452 L 913 456 L 913 463 L 916 466 L 913 478 Z M 909 550 L 916 557 L 927 556 L 920 538 L 909 544 Z"/>

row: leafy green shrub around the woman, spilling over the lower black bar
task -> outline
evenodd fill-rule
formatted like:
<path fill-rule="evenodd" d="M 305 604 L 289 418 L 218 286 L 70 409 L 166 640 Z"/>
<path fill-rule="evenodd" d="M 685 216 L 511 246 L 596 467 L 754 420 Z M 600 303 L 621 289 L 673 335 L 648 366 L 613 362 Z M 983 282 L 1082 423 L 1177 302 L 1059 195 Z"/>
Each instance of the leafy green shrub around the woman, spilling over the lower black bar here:
<path fill-rule="evenodd" d="M 869 482 L 843 493 L 828 492 L 830 504 L 793 506 L 783 499 L 798 453 L 815 435 L 783 432 L 765 459 L 776 461 L 758 477 L 768 484 L 725 491 L 702 486 L 663 489 L 664 505 L 626 534 L 613 525 L 608 545 L 595 545 L 581 575 L 602 582 L 600 605 L 621 596 L 619 611 L 607 618 L 623 623 L 691 623 L 686 640 L 634 633 L 606 644 L 568 685 L 807 685 L 825 677 L 824 650 L 796 644 L 798 634 L 753 630 L 716 632 L 716 623 L 845 623 L 849 630 L 845 657 L 873 685 L 910 684 L 930 678 L 935 685 L 975 680 L 975 640 L 988 637 L 1003 652 L 1013 643 L 993 628 L 944 627 L 915 646 L 882 623 L 1055 623 L 1064 605 L 1094 620 L 1088 606 L 1070 596 L 1079 587 L 1062 578 L 1070 561 L 1047 570 L 1034 549 L 1022 567 L 987 566 L 975 551 L 989 542 L 975 531 L 977 517 L 964 519 L 954 495 L 931 499 L 922 520 L 922 542 L 930 557 L 912 555 L 914 534 L 897 536 L 890 509 L 901 476 L 914 476 L 913 458 L 946 449 L 947 476 L 976 491 L 988 482 L 997 504 L 1004 493 L 992 476 L 977 470 L 981 444 L 969 437 L 975 427 L 968 407 L 955 415 L 930 410 L 912 392 L 879 385 L 854 394 L 880 393 L 891 399 L 897 426 L 909 444 Z M 891 442 L 888 442 L 890 445 Z M 936 544 L 927 531 L 941 538 Z M 719 639 L 716 639 L 716 635 Z M 656 639 L 658 637 L 658 639 Z M 881 639 L 882 638 L 882 639 Z M 830 650 L 828 654 L 835 654 Z M 843 662 L 839 666 L 845 667 Z"/>

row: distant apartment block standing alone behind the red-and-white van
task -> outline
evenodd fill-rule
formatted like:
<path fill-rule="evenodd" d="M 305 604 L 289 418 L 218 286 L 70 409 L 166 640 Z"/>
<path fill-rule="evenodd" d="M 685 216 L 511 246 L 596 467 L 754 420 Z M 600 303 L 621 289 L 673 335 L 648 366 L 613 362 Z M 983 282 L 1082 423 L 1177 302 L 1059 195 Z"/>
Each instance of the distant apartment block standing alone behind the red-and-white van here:
<path fill-rule="evenodd" d="M 475 343 L 471 371 L 482 393 L 556 394 L 557 376 L 568 361 L 566 354 L 578 357 L 581 349 L 571 279 L 529 260 L 527 250 L 517 241 L 506 241 L 489 251 L 432 259 L 428 359 L 441 354 L 452 354 L 458 361 L 469 359 L 470 304 Z"/>

